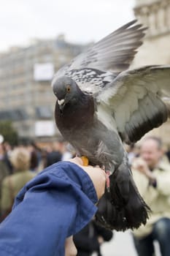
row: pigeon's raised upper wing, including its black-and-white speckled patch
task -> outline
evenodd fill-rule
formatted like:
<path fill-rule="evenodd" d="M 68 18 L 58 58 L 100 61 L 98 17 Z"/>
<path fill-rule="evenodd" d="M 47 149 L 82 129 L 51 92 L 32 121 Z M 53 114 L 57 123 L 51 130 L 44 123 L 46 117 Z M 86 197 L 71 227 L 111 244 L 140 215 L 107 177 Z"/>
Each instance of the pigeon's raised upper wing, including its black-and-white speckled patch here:
<path fill-rule="evenodd" d="M 55 77 L 69 76 L 82 91 L 92 94 L 101 90 L 111 78 L 128 69 L 136 49 L 142 45 L 144 30 L 142 25 L 136 25 L 136 20 L 127 23 L 59 69 Z"/>

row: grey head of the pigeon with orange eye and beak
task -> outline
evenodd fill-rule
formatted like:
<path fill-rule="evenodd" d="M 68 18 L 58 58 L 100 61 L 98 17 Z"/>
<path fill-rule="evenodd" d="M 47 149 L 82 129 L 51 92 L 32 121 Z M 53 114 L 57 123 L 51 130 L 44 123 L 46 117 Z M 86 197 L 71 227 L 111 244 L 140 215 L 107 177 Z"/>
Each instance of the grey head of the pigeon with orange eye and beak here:
<path fill-rule="evenodd" d="M 63 76 L 58 79 L 54 78 L 52 87 L 61 110 L 63 110 L 64 106 L 68 103 L 74 104 L 80 95 L 80 88 L 77 86 L 77 83 L 69 77 Z"/>

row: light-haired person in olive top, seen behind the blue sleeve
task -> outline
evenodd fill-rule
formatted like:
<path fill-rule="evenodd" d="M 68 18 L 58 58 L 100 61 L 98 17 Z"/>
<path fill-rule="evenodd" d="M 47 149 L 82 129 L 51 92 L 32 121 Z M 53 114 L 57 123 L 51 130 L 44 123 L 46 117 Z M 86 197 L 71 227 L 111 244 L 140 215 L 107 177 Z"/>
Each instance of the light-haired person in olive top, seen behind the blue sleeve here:
<path fill-rule="evenodd" d="M 15 173 L 4 178 L 1 184 L 1 220 L 12 209 L 15 196 L 20 189 L 35 176 L 29 170 L 30 154 L 26 148 L 15 148 L 10 156 Z"/>

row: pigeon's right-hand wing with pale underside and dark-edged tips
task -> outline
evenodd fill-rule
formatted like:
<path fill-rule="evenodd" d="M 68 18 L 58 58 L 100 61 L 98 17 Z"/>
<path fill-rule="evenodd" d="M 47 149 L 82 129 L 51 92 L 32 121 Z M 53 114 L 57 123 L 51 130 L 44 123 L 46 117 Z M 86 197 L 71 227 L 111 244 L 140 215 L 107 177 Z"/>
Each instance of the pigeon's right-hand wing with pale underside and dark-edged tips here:
<path fill-rule="evenodd" d="M 117 130 L 136 142 L 170 114 L 170 66 L 142 67 L 122 72 L 98 94 L 101 108 L 112 109 Z"/>

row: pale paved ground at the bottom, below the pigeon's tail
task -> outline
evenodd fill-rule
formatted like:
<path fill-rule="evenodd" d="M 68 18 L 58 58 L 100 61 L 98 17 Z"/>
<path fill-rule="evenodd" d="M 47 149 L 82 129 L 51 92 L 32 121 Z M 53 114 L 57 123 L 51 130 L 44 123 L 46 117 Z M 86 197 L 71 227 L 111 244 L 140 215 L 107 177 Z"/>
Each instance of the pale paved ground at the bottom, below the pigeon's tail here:
<path fill-rule="evenodd" d="M 161 256 L 158 244 L 155 244 L 155 246 L 157 248 L 155 256 Z M 128 231 L 125 233 L 115 233 L 112 241 L 102 246 L 101 252 L 102 256 L 137 256 L 131 234 Z"/>

